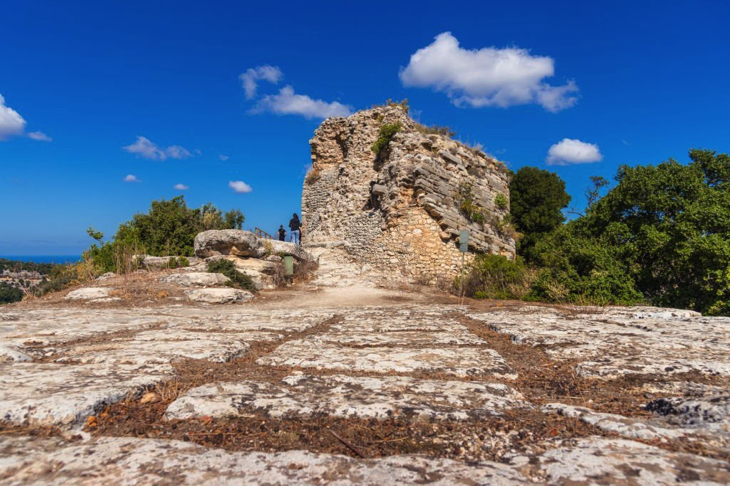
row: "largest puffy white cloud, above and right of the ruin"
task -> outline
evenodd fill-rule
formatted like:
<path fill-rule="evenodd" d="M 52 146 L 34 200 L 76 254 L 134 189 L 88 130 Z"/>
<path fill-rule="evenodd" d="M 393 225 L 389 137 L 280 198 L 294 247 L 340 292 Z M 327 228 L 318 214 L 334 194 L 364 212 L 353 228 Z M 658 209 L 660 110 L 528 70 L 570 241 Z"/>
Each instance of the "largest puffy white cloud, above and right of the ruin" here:
<path fill-rule="evenodd" d="M 444 92 L 457 106 L 506 108 L 537 103 L 556 112 L 575 104 L 578 87 L 573 81 L 563 86 L 543 81 L 554 74 L 550 57 L 533 56 L 517 47 L 463 49 L 450 32 L 444 32 L 411 55 L 399 77 L 406 87 Z"/>

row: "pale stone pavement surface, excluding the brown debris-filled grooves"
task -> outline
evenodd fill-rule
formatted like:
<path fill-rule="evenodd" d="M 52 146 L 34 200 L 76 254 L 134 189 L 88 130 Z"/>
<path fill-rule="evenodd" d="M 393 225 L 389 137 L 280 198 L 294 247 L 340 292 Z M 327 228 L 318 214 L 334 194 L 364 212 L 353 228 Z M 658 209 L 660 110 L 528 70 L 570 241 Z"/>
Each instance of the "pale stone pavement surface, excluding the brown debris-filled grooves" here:
<path fill-rule="evenodd" d="M 84 437 L 0 436 L 0 483 L 730 482 L 728 390 L 693 383 L 688 374 L 730 375 L 730 319 L 651 308 L 296 304 L 295 298 L 265 308 L 69 304 L 0 310 L 0 417 L 6 425 L 53 425 L 68 438 Z M 491 347 L 480 329 L 528 346 L 515 349 L 536 346 L 557 362 L 572 360 L 574 372 L 598 380 L 597 386 L 622 376 L 660 376 L 647 391 L 666 396 L 660 408 L 667 413 L 631 418 L 532 403 L 519 389 L 519 367 L 510 365 L 516 358 Z M 227 363 L 262 344 L 271 348 L 254 355 L 252 366 L 279 375 L 194 387 L 169 404 L 165 419 L 261 414 L 460 423 L 532 413 L 574 417 L 598 432 L 506 450 L 499 462 L 490 462 L 226 452 L 178 441 L 94 438 L 82 431 L 105 405 L 174 378 L 181 359 Z M 514 428 L 517 433 L 520 424 Z M 673 441 L 707 446 L 715 458 L 674 452 Z"/>

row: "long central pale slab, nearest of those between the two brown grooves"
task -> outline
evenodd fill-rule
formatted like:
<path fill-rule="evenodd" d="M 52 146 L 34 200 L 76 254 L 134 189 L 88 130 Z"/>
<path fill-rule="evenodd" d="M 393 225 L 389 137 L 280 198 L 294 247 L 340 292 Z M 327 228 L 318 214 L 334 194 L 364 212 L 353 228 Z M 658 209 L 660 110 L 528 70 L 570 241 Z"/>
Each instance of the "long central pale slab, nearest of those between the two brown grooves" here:
<path fill-rule="evenodd" d="M 170 404 L 167 419 L 226 417 L 262 412 L 270 417 L 330 415 L 406 420 L 467 420 L 531 408 L 501 383 L 416 380 L 408 377 L 293 375 L 281 384 L 213 383 L 185 392 Z"/>

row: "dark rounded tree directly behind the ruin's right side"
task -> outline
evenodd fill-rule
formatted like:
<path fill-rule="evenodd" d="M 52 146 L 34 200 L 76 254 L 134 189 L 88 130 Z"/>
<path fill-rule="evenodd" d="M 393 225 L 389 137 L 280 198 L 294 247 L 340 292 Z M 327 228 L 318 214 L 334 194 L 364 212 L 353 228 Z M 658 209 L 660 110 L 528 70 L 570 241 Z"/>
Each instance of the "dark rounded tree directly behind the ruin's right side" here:
<path fill-rule="evenodd" d="M 557 174 L 537 167 L 518 170 L 509 190 L 511 222 L 523 234 L 518 252 L 532 261 L 535 244 L 565 221 L 561 210 L 570 203 L 570 196 Z"/>

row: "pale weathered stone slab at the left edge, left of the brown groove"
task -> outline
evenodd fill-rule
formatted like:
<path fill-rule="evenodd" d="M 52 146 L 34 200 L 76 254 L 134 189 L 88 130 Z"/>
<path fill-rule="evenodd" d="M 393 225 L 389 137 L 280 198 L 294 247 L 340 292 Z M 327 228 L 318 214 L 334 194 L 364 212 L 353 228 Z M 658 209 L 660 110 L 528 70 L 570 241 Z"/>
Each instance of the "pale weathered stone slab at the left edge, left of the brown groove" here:
<path fill-rule="evenodd" d="M 19 425 L 79 424 L 104 405 L 172 375 L 169 365 L 0 364 L 0 420 Z"/>

